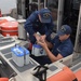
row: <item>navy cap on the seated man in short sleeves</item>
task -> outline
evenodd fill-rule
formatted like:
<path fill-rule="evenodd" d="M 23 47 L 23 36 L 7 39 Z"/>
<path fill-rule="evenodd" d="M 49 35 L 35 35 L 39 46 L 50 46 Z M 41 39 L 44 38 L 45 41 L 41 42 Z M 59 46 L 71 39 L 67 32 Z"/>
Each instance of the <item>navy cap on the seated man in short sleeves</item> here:
<path fill-rule="evenodd" d="M 71 28 L 68 25 L 63 25 L 60 30 L 57 32 L 58 36 L 70 35 Z"/>

